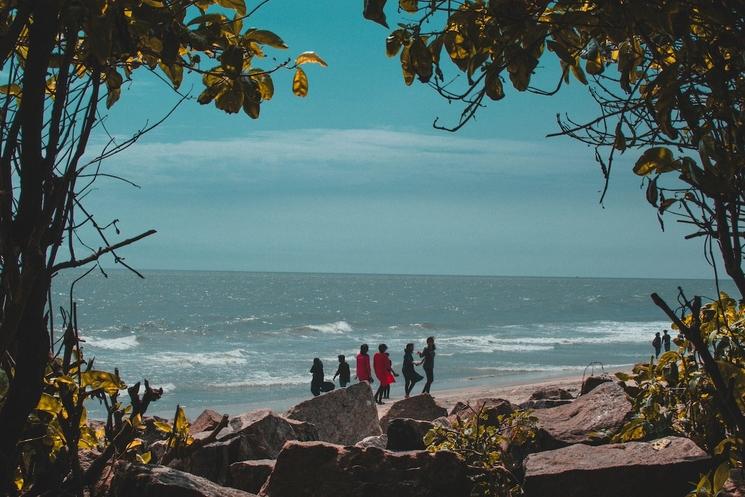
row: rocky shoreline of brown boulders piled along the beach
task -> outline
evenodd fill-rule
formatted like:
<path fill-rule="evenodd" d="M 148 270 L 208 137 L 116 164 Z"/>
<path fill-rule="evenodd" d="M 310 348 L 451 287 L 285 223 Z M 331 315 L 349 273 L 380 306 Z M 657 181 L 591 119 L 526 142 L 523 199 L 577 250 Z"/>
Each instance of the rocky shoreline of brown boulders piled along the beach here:
<path fill-rule="evenodd" d="M 284 414 L 223 419 L 205 411 L 191 430 L 210 443 L 165 465 L 118 461 L 91 495 L 468 497 L 473 468 L 454 452 L 423 450 L 424 435 L 475 410 L 489 424 L 518 408 L 537 419 L 535 440 L 520 457 L 527 497 L 682 497 L 711 467 L 710 456 L 684 438 L 609 443 L 631 403 L 610 377 L 578 380 L 421 394 L 383 406 L 363 383 Z M 164 443 L 145 441 L 143 450 L 160 460 Z"/>

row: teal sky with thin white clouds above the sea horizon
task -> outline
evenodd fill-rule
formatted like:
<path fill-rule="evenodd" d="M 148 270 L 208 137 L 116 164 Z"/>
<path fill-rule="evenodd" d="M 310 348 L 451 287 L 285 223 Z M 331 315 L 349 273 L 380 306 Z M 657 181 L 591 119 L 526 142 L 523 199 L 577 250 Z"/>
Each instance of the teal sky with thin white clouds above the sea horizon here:
<path fill-rule="evenodd" d="M 255 2 L 249 0 L 249 8 Z M 389 2 L 395 4 L 395 2 Z M 389 18 L 395 18 L 394 5 Z M 385 56 L 388 31 L 362 1 L 272 0 L 248 25 L 313 50 L 310 93 L 275 74 L 259 120 L 184 102 L 160 127 L 104 164 L 140 185 L 100 179 L 86 198 L 120 238 L 158 234 L 120 252 L 142 269 L 590 277 L 710 277 L 700 241 L 682 240 L 631 173 L 615 165 L 609 194 L 593 151 L 556 131 L 557 113 L 591 115 L 576 81 L 546 98 L 508 91 L 457 133 L 460 107 L 421 84 L 406 87 Z M 270 67 L 267 59 L 264 67 Z M 551 82 L 555 68 L 542 70 Z M 542 78 L 542 79 L 540 79 Z M 199 93 L 199 82 L 182 90 Z M 126 136 L 178 96 L 136 73 L 106 117 Z M 98 138 L 99 141 L 102 137 Z M 91 241 L 93 246 L 97 242 Z M 110 261 L 104 262 L 111 266 Z"/>

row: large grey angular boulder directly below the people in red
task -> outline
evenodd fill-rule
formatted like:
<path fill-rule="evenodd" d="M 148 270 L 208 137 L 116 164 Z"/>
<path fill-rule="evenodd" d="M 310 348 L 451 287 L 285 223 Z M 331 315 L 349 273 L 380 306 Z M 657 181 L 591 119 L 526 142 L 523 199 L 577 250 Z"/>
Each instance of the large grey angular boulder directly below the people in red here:
<path fill-rule="evenodd" d="M 312 423 L 319 440 L 336 444 L 354 445 L 365 437 L 382 434 L 372 389 L 366 382 L 301 402 L 289 410 L 287 417 Z"/>

